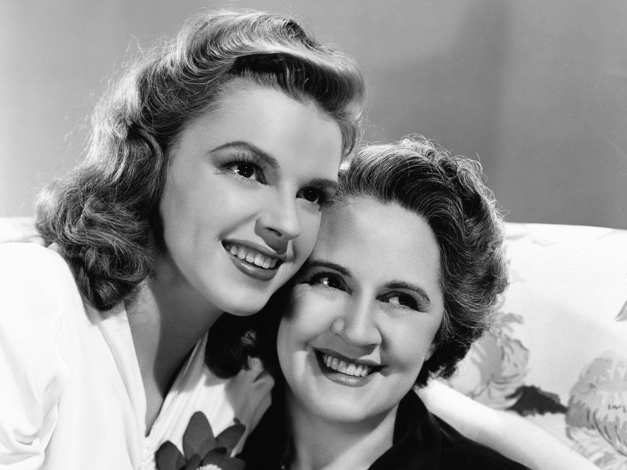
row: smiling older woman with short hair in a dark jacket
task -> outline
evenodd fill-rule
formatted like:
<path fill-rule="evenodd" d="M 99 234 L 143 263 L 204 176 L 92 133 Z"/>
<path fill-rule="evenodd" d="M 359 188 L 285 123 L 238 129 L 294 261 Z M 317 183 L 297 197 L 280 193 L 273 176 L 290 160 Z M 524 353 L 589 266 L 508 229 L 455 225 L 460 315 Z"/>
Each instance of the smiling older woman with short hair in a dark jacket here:
<path fill-rule="evenodd" d="M 474 162 L 424 140 L 374 145 L 340 174 L 338 199 L 272 306 L 285 384 L 246 442 L 246 468 L 526 468 L 413 390 L 453 373 L 507 285 L 502 220 Z"/>

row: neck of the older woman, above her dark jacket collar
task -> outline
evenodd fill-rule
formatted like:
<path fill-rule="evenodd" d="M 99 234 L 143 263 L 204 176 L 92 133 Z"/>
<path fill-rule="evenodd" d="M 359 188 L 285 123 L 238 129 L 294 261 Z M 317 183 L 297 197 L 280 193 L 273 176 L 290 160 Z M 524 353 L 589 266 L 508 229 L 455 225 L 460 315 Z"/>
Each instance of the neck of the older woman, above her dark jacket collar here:
<path fill-rule="evenodd" d="M 329 422 L 300 405 L 286 388 L 293 436 L 291 470 L 366 470 L 393 444 L 396 410 L 359 423 Z"/>

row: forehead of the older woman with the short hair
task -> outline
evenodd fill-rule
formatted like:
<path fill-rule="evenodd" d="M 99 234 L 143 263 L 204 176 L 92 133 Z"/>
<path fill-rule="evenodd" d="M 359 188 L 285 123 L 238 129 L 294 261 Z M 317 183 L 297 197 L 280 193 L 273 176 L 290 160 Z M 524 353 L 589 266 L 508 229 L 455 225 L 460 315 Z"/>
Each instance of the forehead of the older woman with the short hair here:
<path fill-rule="evenodd" d="M 432 288 L 440 273 L 440 249 L 423 217 L 367 197 L 325 210 L 312 258 L 342 264 L 373 280 L 428 280 Z"/>

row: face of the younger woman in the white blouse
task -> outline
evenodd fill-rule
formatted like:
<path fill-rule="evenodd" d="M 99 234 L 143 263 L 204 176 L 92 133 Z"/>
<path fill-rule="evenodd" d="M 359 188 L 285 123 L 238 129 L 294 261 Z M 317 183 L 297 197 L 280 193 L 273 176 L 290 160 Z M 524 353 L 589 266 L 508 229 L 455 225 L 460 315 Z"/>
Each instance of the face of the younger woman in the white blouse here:
<path fill-rule="evenodd" d="M 342 155 L 339 125 L 240 86 L 182 131 L 160 212 L 167 256 L 209 305 L 260 310 L 314 247 Z"/>

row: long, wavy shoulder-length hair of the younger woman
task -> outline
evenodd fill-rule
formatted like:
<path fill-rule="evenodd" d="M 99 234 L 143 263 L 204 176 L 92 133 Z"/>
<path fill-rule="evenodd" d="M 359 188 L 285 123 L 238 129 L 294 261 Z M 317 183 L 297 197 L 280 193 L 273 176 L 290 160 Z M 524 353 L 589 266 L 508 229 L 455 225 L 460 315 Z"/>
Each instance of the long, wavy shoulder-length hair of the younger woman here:
<path fill-rule="evenodd" d="M 154 276 L 158 208 L 171 150 L 190 122 L 238 86 L 314 103 L 339 124 L 344 155 L 361 137 L 361 70 L 292 18 L 218 11 L 143 51 L 100 99 L 87 155 L 40 195 L 36 226 L 56 243 L 85 299 L 100 311 Z"/>

